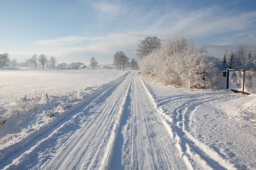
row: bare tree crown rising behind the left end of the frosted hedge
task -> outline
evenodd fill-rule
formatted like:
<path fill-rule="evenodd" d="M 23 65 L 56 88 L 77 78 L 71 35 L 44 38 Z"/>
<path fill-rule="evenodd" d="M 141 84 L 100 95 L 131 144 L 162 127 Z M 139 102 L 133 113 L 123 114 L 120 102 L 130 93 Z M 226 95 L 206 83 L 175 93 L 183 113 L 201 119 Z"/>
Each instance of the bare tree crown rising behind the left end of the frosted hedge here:
<path fill-rule="evenodd" d="M 152 53 L 155 48 L 159 48 L 161 40 L 158 37 L 146 37 L 141 44 L 137 44 L 137 56 L 141 60 L 143 57 Z"/>

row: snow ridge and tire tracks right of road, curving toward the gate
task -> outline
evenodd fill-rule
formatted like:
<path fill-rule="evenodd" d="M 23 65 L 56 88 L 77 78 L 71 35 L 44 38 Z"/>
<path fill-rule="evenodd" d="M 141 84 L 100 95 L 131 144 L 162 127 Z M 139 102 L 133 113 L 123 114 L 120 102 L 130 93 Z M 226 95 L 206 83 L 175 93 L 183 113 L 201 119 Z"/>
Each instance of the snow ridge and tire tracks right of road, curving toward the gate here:
<path fill-rule="evenodd" d="M 204 99 L 203 101 L 197 101 L 197 99 L 195 99 L 192 101 L 192 104 L 188 104 L 187 106 L 185 106 L 186 104 L 182 104 L 181 107 L 176 108 L 177 114 L 174 114 L 174 116 L 170 117 L 166 113 L 164 113 L 162 108 L 159 107 L 160 104 L 156 103 L 153 95 L 148 91 L 142 79 L 139 79 L 141 80 L 144 89 L 147 91 L 148 96 L 150 96 L 150 99 L 154 104 L 156 111 L 159 113 L 160 117 L 162 117 L 162 122 L 165 125 L 168 133 L 171 135 L 172 139 L 176 141 L 177 148 L 179 148 L 181 153 L 183 153 L 183 159 L 184 162 L 187 164 L 188 169 L 236 169 L 234 168 L 233 164 L 230 164 L 227 160 L 223 159 L 221 155 L 219 155 L 216 151 L 204 145 L 204 143 L 201 143 L 199 140 L 189 134 L 187 130 L 185 130 L 185 124 L 187 121 L 187 118 L 185 118 L 187 114 L 185 113 L 187 113 L 188 111 L 195 112 L 196 109 L 200 107 L 200 105 L 203 105 L 210 101 L 215 101 L 218 99 L 218 97 L 217 99 L 211 99 L 211 97 L 206 97 L 206 99 Z M 176 99 L 181 98 L 176 97 Z M 160 103 L 163 104 L 170 101 L 173 100 L 164 99 L 160 101 Z M 197 106 L 195 107 L 195 105 Z"/>

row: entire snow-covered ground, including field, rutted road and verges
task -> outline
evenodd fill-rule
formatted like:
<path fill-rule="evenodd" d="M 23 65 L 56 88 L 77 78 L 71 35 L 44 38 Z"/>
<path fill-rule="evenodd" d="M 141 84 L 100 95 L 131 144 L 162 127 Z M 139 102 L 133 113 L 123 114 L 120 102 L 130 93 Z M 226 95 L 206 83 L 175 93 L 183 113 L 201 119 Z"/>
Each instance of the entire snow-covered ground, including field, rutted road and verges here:
<path fill-rule="evenodd" d="M 11 96 L 1 98 L 1 169 L 256 169 L 255 95 L 163 87 L 134 71 L 1 79 L 11 71 L 16 82 L 0 84 Z"/>

